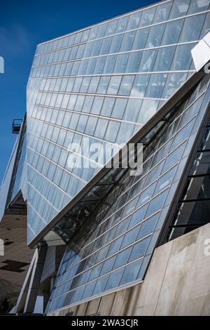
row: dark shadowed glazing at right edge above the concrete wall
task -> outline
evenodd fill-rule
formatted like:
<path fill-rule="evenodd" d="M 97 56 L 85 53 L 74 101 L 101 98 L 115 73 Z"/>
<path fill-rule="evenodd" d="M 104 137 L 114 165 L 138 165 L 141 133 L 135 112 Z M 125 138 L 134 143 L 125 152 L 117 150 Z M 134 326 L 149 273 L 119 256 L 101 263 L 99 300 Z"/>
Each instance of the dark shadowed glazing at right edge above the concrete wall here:
<path fill-rule="evenodd" d="M 175 239 L 209 223 L 209 131 L 210 123 L 202 136 L 188 180 L 179 199 L 166 241 Z"/>

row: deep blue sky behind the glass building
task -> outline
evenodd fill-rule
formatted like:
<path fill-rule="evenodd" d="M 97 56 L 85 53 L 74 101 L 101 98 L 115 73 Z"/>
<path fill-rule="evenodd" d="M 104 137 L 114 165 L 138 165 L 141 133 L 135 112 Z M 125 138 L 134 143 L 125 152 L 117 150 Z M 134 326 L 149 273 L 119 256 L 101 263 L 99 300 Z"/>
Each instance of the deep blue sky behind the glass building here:
<path fill-rule="evenodd" d="M 154 0 L 7 0 L 0 5 L 0 182 L 16 136 L 13 119 L 26 111 L 26 86 L 36 45 L 116 15 L 147 6 Z"/>

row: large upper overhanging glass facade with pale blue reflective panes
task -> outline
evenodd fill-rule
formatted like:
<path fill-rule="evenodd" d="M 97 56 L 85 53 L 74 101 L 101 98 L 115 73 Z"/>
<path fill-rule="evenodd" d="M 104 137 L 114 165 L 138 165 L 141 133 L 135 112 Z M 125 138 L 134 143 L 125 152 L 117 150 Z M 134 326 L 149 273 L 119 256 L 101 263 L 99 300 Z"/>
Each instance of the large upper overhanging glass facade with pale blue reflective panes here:
<path fill-rule="evenodd" d="M 193 74 L 190 51 L 209 29 L 209 0 L 163 1 L 37 46 L 27 86 L 28 242 L 104 166 L 72 168 L 73 144 L 88 137 L 112 155 Z"/>

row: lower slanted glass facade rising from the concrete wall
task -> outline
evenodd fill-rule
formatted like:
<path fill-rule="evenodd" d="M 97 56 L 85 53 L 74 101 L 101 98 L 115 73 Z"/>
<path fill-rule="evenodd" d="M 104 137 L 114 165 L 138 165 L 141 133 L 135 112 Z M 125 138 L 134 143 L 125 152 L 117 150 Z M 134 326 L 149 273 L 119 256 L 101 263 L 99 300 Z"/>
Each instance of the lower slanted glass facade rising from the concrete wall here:
<path fill-rule="evenodd" d="M 81 239 L 71 249 L 66 248 L 47 312 L 144 279 L 202 121 L 209 112 L 209 98 L 206 75 L 174 107 L 161 130 L 145 147 L 141 176 L 125 174 L 106 197 L 96 215 L 99 225 L 85 244 Z M 207 147 L 208 136 L 209 126 L 200 149 Z M 202 171 L 204 162 L 200 162 L 199 166 L 196 162 L 196 169 Z M 195 174 L 193 168 L 192 171 Z M 204 198 L 203 189 L 190 190 L 185 197 L 195 198 Z"/>

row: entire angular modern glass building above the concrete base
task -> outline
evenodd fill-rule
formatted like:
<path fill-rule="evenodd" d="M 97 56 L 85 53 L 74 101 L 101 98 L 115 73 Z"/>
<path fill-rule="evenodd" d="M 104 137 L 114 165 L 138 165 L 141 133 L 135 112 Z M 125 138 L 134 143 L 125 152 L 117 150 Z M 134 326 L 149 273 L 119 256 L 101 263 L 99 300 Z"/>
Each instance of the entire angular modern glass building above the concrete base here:
<path fill-rule="evenodd" d="M 10 199 L 45 313 L 142 283 L 156 246 L 209 223 L 209 74 L 191 55 L 209 30 L 209 0 L 168 0 L 37 46 Z M 105 166 L 129 143 L 138 176 Z"/>

